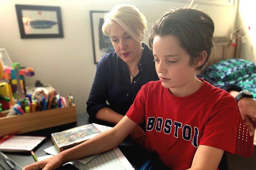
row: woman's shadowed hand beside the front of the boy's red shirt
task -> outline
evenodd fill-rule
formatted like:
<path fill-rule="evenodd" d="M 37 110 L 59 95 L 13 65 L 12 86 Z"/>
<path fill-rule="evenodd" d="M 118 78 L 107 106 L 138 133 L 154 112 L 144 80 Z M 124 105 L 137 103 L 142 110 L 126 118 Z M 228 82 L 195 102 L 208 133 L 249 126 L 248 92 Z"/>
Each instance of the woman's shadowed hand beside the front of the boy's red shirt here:
<path fill-rule="evenodd" d="M 145 148 L 146 133 L 139 125 L 137 125 L 135 129 L 133 129 L 133 131 L 130 133 L 130 136 L 132 137 L 133 140 L 135 140 L 135 142 L 137 142 L 138 144 L 143 146 L 143 148 Z"/>

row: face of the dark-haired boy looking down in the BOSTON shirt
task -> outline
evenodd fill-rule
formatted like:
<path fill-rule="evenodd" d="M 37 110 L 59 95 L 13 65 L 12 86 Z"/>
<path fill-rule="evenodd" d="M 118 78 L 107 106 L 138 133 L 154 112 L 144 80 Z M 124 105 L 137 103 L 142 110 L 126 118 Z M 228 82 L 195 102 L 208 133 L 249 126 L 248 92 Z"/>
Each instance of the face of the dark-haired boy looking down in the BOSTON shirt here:
<path fill-rule="evenodd" d="M 153 41 L 156 71 L 162 86 L 172 90 L 186 90 L 196 79 L 195 67 L 189 65 L 190 55 L 173 35 L 156 36 Z"/>

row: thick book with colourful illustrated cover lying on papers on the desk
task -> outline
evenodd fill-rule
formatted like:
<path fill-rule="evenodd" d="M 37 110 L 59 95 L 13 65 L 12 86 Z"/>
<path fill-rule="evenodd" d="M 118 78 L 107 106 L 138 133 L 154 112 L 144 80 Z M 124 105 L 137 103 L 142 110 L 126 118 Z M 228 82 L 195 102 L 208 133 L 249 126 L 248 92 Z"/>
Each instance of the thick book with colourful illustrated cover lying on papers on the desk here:
<path fill-rule="evenodd" d="M 52 141 L 59 152 L 72 148 L 97 136 L 101 131 L 94 124 L 74 127 L 61 132 L 51 133 Z"/>

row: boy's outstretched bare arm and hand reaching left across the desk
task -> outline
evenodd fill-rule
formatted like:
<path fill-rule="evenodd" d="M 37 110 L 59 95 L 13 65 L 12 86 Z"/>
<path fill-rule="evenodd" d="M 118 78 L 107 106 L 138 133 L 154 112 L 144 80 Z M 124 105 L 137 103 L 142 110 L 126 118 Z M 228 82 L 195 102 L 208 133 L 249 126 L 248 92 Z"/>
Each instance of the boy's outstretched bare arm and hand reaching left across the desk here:
<path fill-rule="evenodd" d="M 133 122 L 127 116 L 124 116 L 124 118 L 112 129 L 103 132 L 80 145 L 64 150 L 56 156 L 26 166 L 24 169 L 54 170 L 69 161 L 113 149 L 117 147 L 137 125 L 138 124 Z"/>

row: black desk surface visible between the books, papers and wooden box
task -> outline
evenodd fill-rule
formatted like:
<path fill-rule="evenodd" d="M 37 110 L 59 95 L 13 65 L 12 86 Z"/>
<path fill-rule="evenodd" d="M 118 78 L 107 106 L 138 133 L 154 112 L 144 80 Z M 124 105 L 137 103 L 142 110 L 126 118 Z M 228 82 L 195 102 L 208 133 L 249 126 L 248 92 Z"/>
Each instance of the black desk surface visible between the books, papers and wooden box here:
<path fill-rule="evenodd" d="M 53 142 L 50 137 L 50 133 L 60 132 L 62 130 L 66 130 L 72 127 L 81 126 L 84 124 L 89 124 L 89 115 L 86 114 L 77 114 L 77 122 L 65 124 L 57 127 L 51 127 L 48 129 L 42 129 L 34 132 L 24 133 L 21 135 L 32 135 L 32 136 L 46 136 L 46 140 L 42 142 L 39 146 L 37 146 L 33 151 L 37 157 L 46 156 L 47 153 L 44 152 L 44 149 L 53 145 Z M 128 159 L 128 161 L 132 164 L 135 169 L 138 169 L 143 163 L 147 160 L 146 151 L 140 146 L 119 146 L 119 149 L 122 151 L 124 156 Z M 30 152 L 3 152 L 7 156 L 9 156 L 12 160 L 20 164 L 20 166 L 24 167 L 31 163 L 34 163 L 34 159 L 31 156 Z"/>

